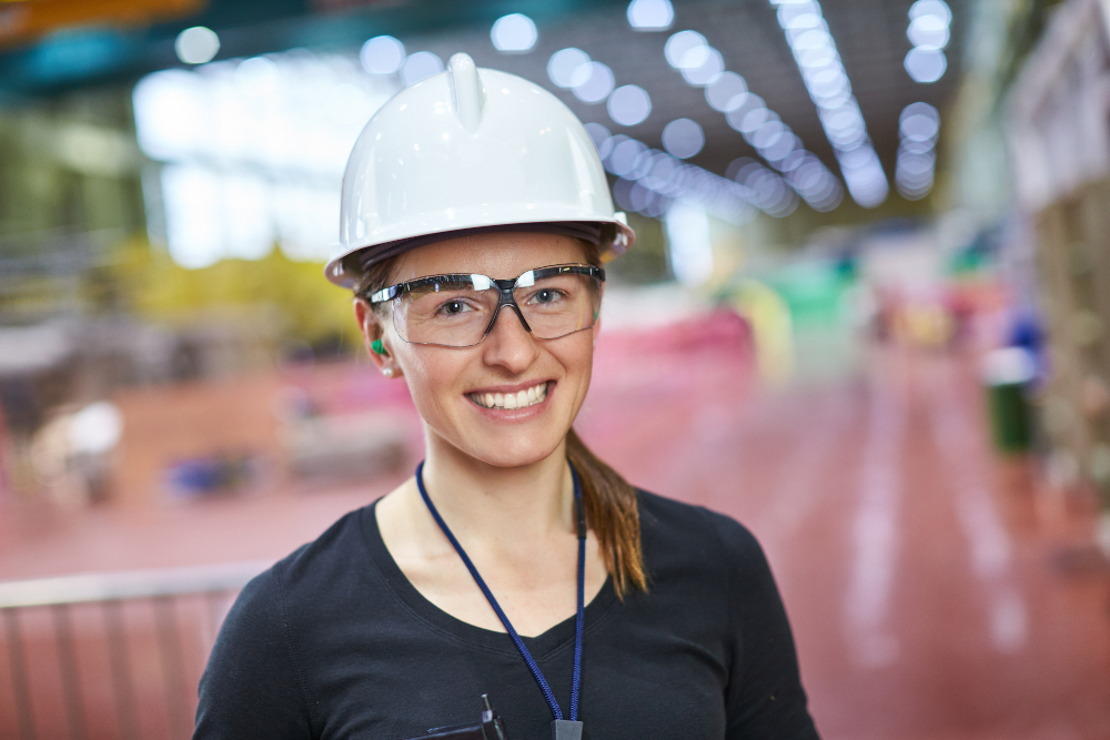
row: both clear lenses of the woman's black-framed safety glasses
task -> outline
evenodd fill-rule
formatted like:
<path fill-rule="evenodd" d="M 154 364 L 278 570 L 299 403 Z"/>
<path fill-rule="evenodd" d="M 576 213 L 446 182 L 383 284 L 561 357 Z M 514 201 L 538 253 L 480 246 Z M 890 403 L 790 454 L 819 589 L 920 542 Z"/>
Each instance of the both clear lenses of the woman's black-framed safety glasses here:
<path fill-rule="evenodd" d="M 521 275 L 513 297 L 534 336 L 556 339 L 594 325 L 601 307 L 601 281 L 589 275 L 562 273 L 535 277 Z M 486 335 L 500 303 L 497 286 L 484 275 L 445 275 L 393 301 L 397 333 L 413 344 L 468 347 Z M 518 321 L 511 306 L 502 306 L 498 321 Z"/>

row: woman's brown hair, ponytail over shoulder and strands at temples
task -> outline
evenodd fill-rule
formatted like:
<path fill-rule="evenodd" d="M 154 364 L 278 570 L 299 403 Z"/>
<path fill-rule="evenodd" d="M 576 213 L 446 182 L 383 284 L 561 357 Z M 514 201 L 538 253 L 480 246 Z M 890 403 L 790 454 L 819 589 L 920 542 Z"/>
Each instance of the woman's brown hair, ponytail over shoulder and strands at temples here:
<path fill-rule="evenodd" d="M 585 240 L 582 244 L 586 261 L 601 266 L 597 245 Z M 356 267 L 352 255 L 350 267 Z M 404 255 L 370 265 L 354 291 L 356 297 L 387 287 L 397 261 Z M 380 304 L 381 305 L 381 304 Z M 377 306 L 375 306 L 377 308 Z M 639 506 L 636 489 L 619 473 L 606 465 L 572 428 L 566 435 L 566 458 L 582 481 L 582 498 L 586 507 L 586 524 L 597 537 L 605 569 L 613 577 L 613 587 L 622 599 L 630 590 L 647 590 L 644 550 L 639 538 Z"/>

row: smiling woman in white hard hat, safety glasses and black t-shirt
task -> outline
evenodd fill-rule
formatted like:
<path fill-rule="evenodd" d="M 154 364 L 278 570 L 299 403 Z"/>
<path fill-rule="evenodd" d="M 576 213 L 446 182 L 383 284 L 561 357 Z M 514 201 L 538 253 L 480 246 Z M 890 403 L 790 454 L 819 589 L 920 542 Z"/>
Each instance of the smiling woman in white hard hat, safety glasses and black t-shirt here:
<path fill-rule="evenodd" d="M 457 54 L 367 124 L 341 221 L 327 274 L 426 458 L 243 590 L 195 737 L 412 738 L 487 695 L 512 740 L 816 738 L 754 538 L 572 428 L 634 239 L 574 115 Z"/>

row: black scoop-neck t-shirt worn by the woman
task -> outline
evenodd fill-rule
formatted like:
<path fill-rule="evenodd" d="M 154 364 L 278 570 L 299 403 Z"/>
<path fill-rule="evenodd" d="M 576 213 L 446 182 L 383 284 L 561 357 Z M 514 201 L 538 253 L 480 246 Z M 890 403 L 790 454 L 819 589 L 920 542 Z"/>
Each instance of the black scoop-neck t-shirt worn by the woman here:
<path fill-rule="evenodd" d="M 649 590 L 606 581 L 586 607 L 579 719 L 592 740 L 810 740 L 790 628 L 736 521 L 640 493 Z M 564 712 L 574 619 L 523 638 Z M 397 740 L 475 722 L 488 693 L 509 740 L 552 712 L 509 637 L 408 582 L 374 506 L 347 514 L 243 589 L 201 680 L 199 740 Z"/>

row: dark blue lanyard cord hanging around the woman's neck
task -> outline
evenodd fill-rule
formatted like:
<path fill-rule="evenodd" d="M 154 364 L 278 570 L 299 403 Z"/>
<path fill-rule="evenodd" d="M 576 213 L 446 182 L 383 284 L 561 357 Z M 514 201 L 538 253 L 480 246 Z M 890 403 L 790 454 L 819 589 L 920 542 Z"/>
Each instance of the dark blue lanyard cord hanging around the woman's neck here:
<path fill-rule="evenodd" d="M 432 518 L 435 523 L 440 525 L 440 529 L 443 534 L 447 536 L 451 541 L 452 547 L 458 553 L 458 557 L 462 558 L 463 564 L 466 569 L 471 571 L 471 576 L 474 577 L 474 581 L 482 589 L 485 595 L 486 600 L 490 601 L 490 606 L 497 614 L 497 618 L 501 619 L 501 624 L 505 626 L 505 631 L 508 636 L 513 638 L 513 643 L 516 649 L 521 652 L 521 657 L 524 658 L 524 662 L 527 663 L 528 670 L 532 671 L 532 677 L 536 679 L 536 683 L 539 685 L 539 690 L 544 692 L 544 698 L 547 699 L 547 706 L 552 709 L 552 714 L 555 719 L 563 719 L 563 710 L 559 709 L 558 702 L 555 701 L 555 695 L 552 692 L 551 687 L 547 685 L 547 679 L 544 678 L 543 672 L 539 670 L 539 666 L 536 665 L 535 659 L 532 653 L 528 652 L 527 646 L 524 645 L 524 640 L 521 636 L 516 633 L 513 628 L 513 624 L 508 621 L 508 617 L 502 610 L 501 605 L 497 604 L 497 599 L 494 598 L 493 591 L 486 586 L 486 582 L 482 579 L 478 574 L 478 569 L 474 567 L 471 558 L 466 555 L 466 550 L 463 546 L 458 544 L 455 536 L 452 534 L 451 528 L 447 527 L 447 523 L 443 520 L 440 516 L 440 511 L 436 510 L 435 504 L 428 498 L 427 490 L 424 488 L 424 463 L 421 462 L 416 466 L 416 487 L 420 488 L 421 498 L 424 499 L 424 504 L 427 506 L 427 510 L 432 513 Z M 578 719 L 578 690 L 582 687 L 582 632 L 584 627 L 584 612 L 585 612 L 585 600 L 586 600 L 586 517 L 585 508 L 582 504 L 582 486 L 578 483 L 578 474 L 575 472 L 574 466 L 571 466 L 571 477 L 574 480 L 574 508 L 578 520 L 578 608 L 577 614 L 574 619 L 574 677 L 571 679 L 571 721 L 577 721 Z"/>

